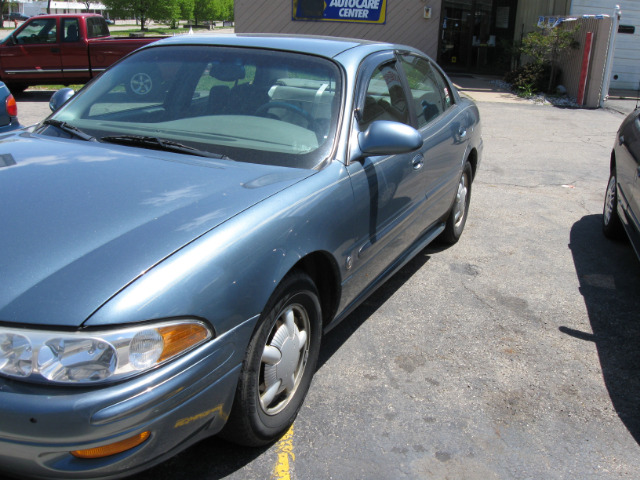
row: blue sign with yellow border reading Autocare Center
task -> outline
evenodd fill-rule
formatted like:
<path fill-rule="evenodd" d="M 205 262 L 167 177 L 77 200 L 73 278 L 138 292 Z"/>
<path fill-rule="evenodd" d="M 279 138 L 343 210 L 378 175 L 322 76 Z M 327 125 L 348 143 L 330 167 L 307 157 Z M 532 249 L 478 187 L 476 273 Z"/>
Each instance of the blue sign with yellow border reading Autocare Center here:
<path fill-rule="evenodd" d="M 293 0 L 293 19 L 321 22 L 386 21 L 387 0 Z"/>

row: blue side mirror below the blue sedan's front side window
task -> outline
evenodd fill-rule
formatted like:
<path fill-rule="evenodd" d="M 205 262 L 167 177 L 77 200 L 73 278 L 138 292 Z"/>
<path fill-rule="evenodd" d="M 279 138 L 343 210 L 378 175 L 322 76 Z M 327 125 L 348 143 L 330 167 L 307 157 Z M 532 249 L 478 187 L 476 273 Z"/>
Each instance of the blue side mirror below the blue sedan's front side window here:
<path fill-rule="evenodd" d="M 395 155 L 409 153 L 422 146 L 422 136 L 415 128 L 399 122 L 378 120 L 358 133 L 358 146 L 363 155 Z"/>

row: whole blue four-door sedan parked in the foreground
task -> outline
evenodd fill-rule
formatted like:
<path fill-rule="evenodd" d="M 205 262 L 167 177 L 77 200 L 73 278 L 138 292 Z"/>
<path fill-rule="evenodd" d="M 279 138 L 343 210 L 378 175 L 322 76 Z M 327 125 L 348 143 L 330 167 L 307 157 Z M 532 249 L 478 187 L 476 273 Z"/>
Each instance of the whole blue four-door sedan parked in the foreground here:
<path fill-rule="evenodd" d="M 0 139 L 0 471 L 273 442 L 323 333 L 465 227 L 478 109 L 414 48 L 177 36 L 71 93 Z"/>

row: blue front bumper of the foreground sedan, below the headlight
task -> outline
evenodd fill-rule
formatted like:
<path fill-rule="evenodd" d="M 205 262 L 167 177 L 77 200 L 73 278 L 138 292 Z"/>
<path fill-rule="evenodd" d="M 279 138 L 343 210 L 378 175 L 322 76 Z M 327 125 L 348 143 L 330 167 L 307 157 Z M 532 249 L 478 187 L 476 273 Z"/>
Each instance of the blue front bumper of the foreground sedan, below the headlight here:
<path fill-rule="evenodd" d="M 0 379 L 0 472 L 19 478 L 119 478 L 218 433 L 255 320 L 114 385 L 52 387 Z M 145 442 L 119 454 L 80 459 L 70 453 L 145 431 Z"/>

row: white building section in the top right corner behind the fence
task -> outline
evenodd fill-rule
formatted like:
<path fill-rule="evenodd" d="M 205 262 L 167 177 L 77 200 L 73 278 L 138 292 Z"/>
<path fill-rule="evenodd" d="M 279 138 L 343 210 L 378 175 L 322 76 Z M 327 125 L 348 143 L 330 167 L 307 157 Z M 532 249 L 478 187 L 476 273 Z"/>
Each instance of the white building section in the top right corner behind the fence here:
<path fill-rule="evenodd" d="M 613 15 L 615 4 L 620 5 L 620 25 L 634 26 L 635 33 L 618 33 L 611 70 L 610 90 L 640 91 L 640 2 L 638 0 L 574 0 L 572 15 Z"/>

